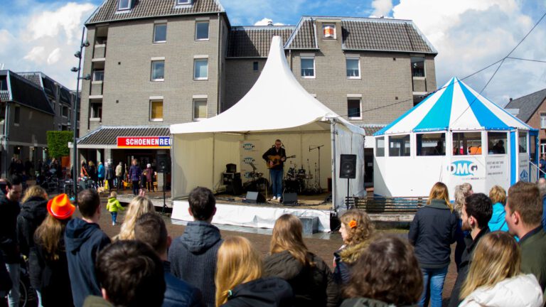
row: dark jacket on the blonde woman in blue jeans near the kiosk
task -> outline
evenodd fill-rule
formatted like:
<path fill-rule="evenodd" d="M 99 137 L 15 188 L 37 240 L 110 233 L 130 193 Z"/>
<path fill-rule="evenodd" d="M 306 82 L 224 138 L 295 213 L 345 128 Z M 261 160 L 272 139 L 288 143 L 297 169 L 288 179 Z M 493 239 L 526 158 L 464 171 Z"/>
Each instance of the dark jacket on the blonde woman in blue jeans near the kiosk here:
<path fill-rule="evenodd" d="M 457 217 L 444 200 L 432 200 L 417 210 L 408 239 L 422 268 L 439 269 L 449 265 L 450 245 L 455 242 Z"/>

